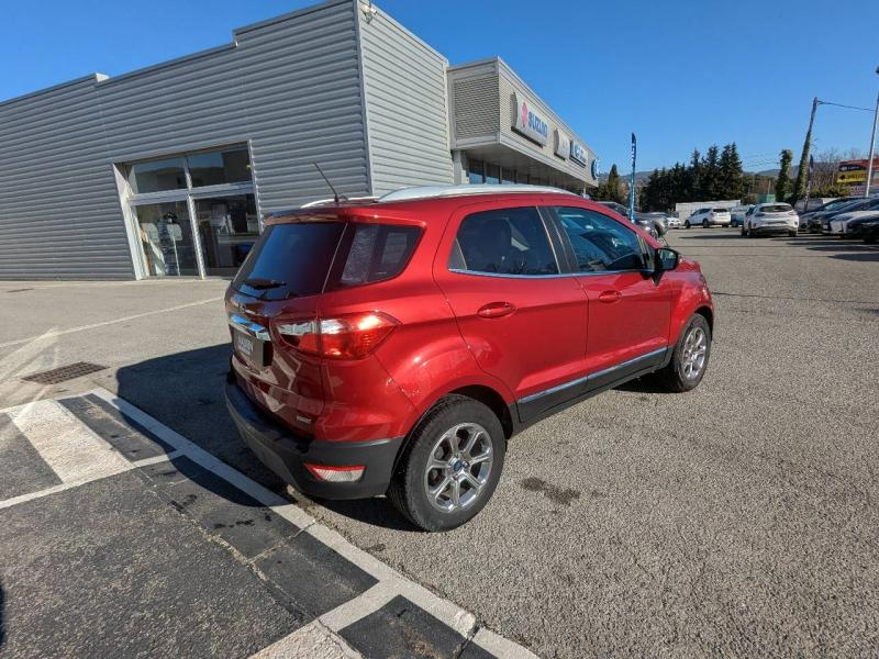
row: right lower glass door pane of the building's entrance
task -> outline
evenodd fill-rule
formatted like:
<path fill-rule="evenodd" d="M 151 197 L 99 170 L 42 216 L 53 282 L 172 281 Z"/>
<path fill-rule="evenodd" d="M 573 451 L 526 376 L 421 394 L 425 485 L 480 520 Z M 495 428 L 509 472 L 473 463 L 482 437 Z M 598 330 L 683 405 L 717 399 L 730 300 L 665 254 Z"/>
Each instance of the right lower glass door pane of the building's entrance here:
<path fill-rule="evenodd" d="M 196 199 L 204 273 L 234 277 L 259 236 L 259 216 L 253 194 Z"/>

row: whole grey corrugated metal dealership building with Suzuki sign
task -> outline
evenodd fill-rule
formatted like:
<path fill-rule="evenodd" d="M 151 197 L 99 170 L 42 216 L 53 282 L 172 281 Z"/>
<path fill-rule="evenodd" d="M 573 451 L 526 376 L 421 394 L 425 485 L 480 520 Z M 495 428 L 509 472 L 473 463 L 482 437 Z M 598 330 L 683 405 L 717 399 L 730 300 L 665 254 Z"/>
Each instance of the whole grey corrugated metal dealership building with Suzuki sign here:
<path fill-rule="evenodd" d="M 229 276 L 259 219 L 405 186 L 594 186 L 594 154 L 500 59 L 446 58 L 360 0 L 0 102 L 0 278 Z"/>

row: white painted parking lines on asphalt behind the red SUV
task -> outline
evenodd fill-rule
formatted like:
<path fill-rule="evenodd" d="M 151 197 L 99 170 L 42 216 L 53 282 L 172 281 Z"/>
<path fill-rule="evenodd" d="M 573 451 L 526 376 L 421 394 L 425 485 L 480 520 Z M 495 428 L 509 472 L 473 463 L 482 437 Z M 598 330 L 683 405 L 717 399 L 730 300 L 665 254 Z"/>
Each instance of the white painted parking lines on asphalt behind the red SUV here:
<path fill-rule="evenodd" d="M 316 621 L 297 629 L 256 655 L 259 659 L 275 657 L 319 657 L 351 659 L 359 655 L 352 649 L 340 632 L 351 632 L 357 623 L 382 612 L 391 602 L 408 600 L 412 605 L 436 618 L 437 623 L 461 637 L 463 646 L 477 646 L 488 654 L 511 659 L 533 659 L 531 651 L 478 625 L 476 617 L 457 604 L 445 600 L 424 587 L 410 581 L 388 565 L 351 544 L 341 534 L 322 526 L 297 505 L 275 494 L 242 472 L 220 461 L 182 435 L 153 418 L 110 391 L 96 389 L 81 395 L 105 401 L 124 417 L 148 431 L 171 447 L 167 455 L 131 462 L 80 420 L 52 400 L 10 407 L 4 412 L 31 440 L 37 453 L 64 481 L 54 488 L 0 502 L 0 509 L 30 501 L 38 496 L 70 489 L 79 484 L 127 471 L 136 467 L 155 465 L 177 458 L 187 458 L 202 469 L 234 485 L 276 515 L 299 527 L 299 533 L 311 536 L 327 549 L 335 551 L 370 577 L 377 583 L 365 592 L 319 615 Z M 363 626 L 359 625 L 359 626 Z M 376 630 L 380 633 L 380 630 Z M 444 632 L 444 634 L 446 634 Z"/>

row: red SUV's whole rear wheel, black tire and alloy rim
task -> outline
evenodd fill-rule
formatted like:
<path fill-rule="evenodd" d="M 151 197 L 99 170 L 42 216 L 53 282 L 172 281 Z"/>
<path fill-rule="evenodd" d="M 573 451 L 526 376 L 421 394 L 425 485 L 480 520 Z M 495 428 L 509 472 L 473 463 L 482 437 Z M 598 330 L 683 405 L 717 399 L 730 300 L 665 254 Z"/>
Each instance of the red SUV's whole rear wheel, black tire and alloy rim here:
<path fill-rule="evenodd" d="M 412 431 L 388 498 L 419 528 L 449 530 L 472 520 L 491 499 L 505 453 L 498 416 L 471 398 L 448 395 Z"/>

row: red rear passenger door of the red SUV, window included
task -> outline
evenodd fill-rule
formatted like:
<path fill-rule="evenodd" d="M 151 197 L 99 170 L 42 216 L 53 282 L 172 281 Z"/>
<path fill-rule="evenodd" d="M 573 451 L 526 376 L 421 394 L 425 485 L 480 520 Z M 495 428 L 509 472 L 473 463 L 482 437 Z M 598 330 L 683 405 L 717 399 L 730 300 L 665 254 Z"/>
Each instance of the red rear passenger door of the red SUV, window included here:
<path fill-rule="evenodd" d="M 583 392 L 588 304 L 560 249 L 534 205 L 482 202 L 453 215 L 434 264 L 461 336 L 522 421 Z"/>

